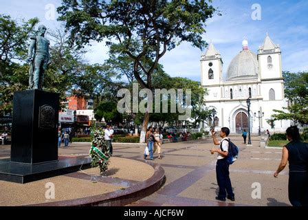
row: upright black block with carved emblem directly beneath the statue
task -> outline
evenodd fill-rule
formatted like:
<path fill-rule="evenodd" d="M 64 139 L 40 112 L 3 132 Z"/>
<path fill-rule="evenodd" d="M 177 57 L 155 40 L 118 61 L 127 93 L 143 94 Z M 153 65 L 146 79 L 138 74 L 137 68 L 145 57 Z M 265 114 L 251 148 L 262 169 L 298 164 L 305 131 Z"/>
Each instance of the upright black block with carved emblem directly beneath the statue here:
<path fill-rule="evenodd" d="M 14 93 L 11 162 L 58 160 L 59 95 L 40 90 Z"/>

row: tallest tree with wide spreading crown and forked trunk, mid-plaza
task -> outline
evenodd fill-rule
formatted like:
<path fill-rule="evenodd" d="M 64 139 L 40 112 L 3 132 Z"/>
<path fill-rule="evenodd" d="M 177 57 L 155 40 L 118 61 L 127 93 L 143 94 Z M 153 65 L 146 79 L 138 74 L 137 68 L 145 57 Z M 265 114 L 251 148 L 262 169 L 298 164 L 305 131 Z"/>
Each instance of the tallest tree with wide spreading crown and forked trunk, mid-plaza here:
<path fill-rule="evenodd" d="M 133 74 L 142 88 L 153 89 L 152 74 L 160 58 L 182 41 L 203 49 L 204 24 L 215 9 L 206 1 L 76 1 L 63 0 L 59 18 L 71 39 L 83 46 L 108 39 L 107 45 L 133 59 Z M 139 47 L 135 45 L 141 44 Z M 146 68 L 142 61 L 151 58 Z M 140 76 L 142 69 L 146 80 Z M 144 115 L 143 134 L 149 120 Z M 141 135 L 143 137 L 143 135 Z M 144 142 L 140 137 L 140 142 Z"/>

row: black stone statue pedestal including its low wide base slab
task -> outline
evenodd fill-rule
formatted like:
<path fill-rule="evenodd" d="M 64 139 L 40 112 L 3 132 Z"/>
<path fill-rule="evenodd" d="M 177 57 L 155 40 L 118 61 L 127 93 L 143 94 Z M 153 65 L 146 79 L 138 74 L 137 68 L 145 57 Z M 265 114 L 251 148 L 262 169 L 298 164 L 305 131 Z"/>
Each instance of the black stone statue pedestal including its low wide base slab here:
<path fill-rule="evenodd" d="M 58 94 L 18 91 L 13 111 L 11 159 L 0 159 L 0 180 L 25 184 L 91 167 L 87 157 L 58 159 Z"/>

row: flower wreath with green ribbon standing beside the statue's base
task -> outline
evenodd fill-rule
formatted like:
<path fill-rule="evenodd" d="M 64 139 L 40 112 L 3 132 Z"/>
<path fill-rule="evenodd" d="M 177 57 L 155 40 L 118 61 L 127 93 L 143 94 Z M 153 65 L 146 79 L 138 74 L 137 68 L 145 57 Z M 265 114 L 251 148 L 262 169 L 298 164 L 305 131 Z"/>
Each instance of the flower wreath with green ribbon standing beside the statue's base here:
<path fill-rule="evenodd" d="M 104 140 L 104 131 L 102 129 L 96 129 L 94 131 L 94 140 L 89 155 L 92 159 L 92 167 L 99 167 L 100 173 L 108 170 L 111 154 L 109 145 Z"/>

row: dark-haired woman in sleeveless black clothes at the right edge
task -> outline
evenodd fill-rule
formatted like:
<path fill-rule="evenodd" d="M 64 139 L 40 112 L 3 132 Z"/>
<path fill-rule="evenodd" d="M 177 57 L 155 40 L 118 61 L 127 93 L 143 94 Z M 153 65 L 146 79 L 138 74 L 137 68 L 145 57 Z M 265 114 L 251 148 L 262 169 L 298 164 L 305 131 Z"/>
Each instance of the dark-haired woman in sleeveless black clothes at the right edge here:
<path fill-rule="evenodd" d="M 300 141 L 297 126 L 287 129 L 289 144 L 283 147 L 283 158 L 274 177 L 289 161 L 289 201 L 292 206 L 308 206 L 308 144 Z"/>

